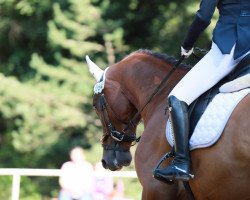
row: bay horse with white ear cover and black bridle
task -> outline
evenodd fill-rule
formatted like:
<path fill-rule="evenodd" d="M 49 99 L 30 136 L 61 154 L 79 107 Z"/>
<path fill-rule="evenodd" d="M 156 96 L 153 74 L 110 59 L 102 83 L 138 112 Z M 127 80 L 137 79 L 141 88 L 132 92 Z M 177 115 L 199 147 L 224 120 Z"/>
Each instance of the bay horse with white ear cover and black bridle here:
<path fill-rule="evenodd" d="M 152 171 L 171 150 L 165 136 L 166 98 L 188 68 L 184 64 L 178 67 L 163 89 L 142 109 L 176 63 L 175 59 L 138 50 L 105 72 L 88 57 L 87 62 L 99 82 L 95 86 L 93 106 L 103 126 L 103 167 L 115 171 L 131 163 L 131 144 L 137 124 L 143 120 L 144 132 L 134 157 L 142 199 L 187 199 L 179 182 L 162 183 L 153 178 Z M 138 111 L 141 112 L 137 114 Z M 219 141 L 211 147 L 191 151 L 195 178 L 189 184 L 196 200 L 250 199 L 249 119 L 250 95 L 247 95 L 234 109 Z"/>

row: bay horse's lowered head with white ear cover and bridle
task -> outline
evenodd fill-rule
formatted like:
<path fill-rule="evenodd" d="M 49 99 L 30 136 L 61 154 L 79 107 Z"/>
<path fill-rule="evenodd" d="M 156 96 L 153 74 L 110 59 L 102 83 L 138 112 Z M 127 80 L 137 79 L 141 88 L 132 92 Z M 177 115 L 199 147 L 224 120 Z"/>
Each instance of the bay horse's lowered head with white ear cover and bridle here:
<path fill-rule="evenodd" d="M 132 155 L 130 147 L 136 141 L 136 126 L 140 115 L 126 96 L 119 79 L 108 78 L 112 70 L 101 70 L 86 57 L 89 71 L 97 83 L 94 87 L 93 107 L 103 127 L 102 165 L 112 171 L 130 165 Z"/>

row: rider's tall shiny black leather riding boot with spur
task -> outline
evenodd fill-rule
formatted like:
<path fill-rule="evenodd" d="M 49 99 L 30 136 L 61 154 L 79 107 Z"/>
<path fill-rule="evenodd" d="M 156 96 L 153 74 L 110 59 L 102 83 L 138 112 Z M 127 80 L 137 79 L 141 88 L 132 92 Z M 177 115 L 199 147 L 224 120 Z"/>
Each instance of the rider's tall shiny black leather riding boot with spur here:
<path fill-rule="evenodd" d="M 154 176 L 159 179 L 188 181 L 194 177 L 190 171 L 188 105 L 175 96 L 170 96 L 168 103 L 175 140 L 174 160 L 168 167 L 156 169 Z"/>

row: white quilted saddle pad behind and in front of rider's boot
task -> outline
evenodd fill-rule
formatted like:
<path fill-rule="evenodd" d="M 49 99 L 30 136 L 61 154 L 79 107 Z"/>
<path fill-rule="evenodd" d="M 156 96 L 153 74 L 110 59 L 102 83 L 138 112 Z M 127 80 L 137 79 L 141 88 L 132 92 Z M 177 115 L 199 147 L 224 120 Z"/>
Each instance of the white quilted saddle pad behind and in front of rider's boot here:
<path fill-rule="evenodd" d="M 233 93 L 219 93 L 198 121 L 190 138 L 190 150 L 209 147 L 221 136 L 225 125 L 237 104 L 250 93 L 250 88 Z M 169 120 L 166 125 L 166 137 L 171 146 L 174 139 Z"/>

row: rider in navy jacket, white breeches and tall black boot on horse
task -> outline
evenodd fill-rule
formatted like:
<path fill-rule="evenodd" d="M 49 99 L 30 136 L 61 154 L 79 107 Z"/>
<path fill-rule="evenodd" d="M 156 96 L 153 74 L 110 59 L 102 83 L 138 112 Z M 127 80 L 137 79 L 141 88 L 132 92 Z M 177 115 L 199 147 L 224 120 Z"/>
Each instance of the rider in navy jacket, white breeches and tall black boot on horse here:
<path fill-rule="evenodd" d="M 188 106 L 202 93 L 229 74 L 250 52 L 250 1 L 201 0 L 200 9 L 181 47 L 186 58 L 200 33 L 210 24 L 215 8 L 219 20 L 213 31 L 211 50 L 186 74 L 168 96 L 170 122 L 174 135 L 175 156 L 172 163 L 156 169 L 155 177 L 188 181 L 191 174 L 189 155 Z"/>

